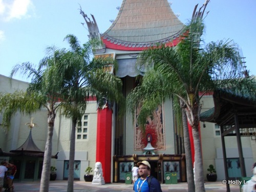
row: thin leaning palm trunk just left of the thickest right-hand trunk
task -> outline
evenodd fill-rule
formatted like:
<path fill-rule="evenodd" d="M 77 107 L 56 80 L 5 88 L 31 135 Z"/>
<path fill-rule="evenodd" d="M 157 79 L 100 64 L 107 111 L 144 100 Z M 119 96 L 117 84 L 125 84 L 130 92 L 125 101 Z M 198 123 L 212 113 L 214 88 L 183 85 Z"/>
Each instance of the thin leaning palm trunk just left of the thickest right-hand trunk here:
<path fill-rule="evenodd" d="M 187 115 L 183 108 L 183 103 L 180 100 L 181 113 L 182 113 L 182 122 L 183 122 L 183 136 L 184 136 L 184 149 L 186 154 L 186 173 L 187 173 L 187 188 L 189 192 L 195 192 L 195 181 L 194 181 L 194 172 L 193 172 L 193 163 L 191 156 L 191 146 L 190 139 L 188 134 L 187 126 Z"/>

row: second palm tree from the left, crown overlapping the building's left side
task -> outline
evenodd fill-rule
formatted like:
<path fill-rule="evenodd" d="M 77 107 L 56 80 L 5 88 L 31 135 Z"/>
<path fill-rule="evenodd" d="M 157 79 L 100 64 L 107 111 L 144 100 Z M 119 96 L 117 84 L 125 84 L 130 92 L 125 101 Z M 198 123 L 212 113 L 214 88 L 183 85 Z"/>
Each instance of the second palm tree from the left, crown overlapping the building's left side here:
<path fill-rule="evenodd" d="M 99 106 L 105 99 L 110 101 L 123 101 L 121 80 L 105 70 L 108 65 L 116 65 L 113 58 L 91 59 L 92 46 L 97 39 L 92 39 L 87 44 L 79 45 L 74 35 L 67 35 L 71 50 L 66 53 L 65 61 L 60 63 L 62 73 L 65 74 L 65 102 L 62 112 L 72 119 L 70 137 L 69 178 L 67 191 L 73 191 L 74 184 L 74 158 L 75 158 L 75 130 L 78 121 L 86 111 L 86 99 L 96 96 Z"/>

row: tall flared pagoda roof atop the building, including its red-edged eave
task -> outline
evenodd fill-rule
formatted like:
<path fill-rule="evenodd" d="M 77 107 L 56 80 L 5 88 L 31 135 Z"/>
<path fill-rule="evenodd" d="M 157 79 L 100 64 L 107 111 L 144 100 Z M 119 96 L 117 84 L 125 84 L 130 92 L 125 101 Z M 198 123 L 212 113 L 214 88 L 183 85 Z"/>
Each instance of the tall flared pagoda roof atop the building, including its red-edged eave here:
<path fill-rule="evenodd" d="M 123 0 L 101 38 L 106 48 L 117 50 L 143 50 L 171 41 L 176 46 L 183 26 L 167 0 Z"/>

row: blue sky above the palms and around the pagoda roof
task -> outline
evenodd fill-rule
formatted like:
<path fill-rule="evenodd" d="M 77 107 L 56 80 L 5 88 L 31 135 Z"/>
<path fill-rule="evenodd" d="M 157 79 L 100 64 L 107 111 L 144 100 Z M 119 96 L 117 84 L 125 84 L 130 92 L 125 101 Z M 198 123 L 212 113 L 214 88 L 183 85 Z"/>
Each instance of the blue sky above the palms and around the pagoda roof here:
<path fill-rule="evenodd" d="M 146 0 L 145 0 L 146 1 Z M 186 24 L 196 4 L 204 0 L 169 0 L 174 13 Z M 38 64 L 46 48 L 68 48 L 63 38 L 78 37 L 81 44 L 88 41 L 87 26 L 79 5 L 93 14 L 100 33 L 105 32 L 118 13 L 122 0 L 0 0 L 0 74 L 9 76 L 14 65 L 21 62 Z M 205 18 L 205 42 L 233 40 L 245 57 L 250 75 L 256 75 L 256 1 L 210 0 Z M 26 80 L 21 75 L 17 79 Z"/>

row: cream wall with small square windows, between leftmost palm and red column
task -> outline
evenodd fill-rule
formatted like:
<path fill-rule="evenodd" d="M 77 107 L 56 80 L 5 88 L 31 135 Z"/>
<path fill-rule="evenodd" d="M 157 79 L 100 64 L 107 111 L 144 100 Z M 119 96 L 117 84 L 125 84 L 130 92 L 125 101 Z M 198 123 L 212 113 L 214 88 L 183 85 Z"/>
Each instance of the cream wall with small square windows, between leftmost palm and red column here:
<path fill-rule="evenodd" d="M 87 139 L 76 139 L 75 160 L 80 164 L 80 180 L 83 179 L 85 170 L 88 166 L 94 168 L 96 161 L 96 135 L 97 135 L 97 102 L 89 101 L 87 110 L 84 113 L 88 115 L 88 137 Z M 69 160 L 71 119 L 67 119 L 63 114 L 58 113 L 55 118 L 53 134 L 52 154 L 58 153 L 58 159 L 52 160 L 52 165 L 56 166 L 57 179 L 63 179 L 64 161 Z"/>

